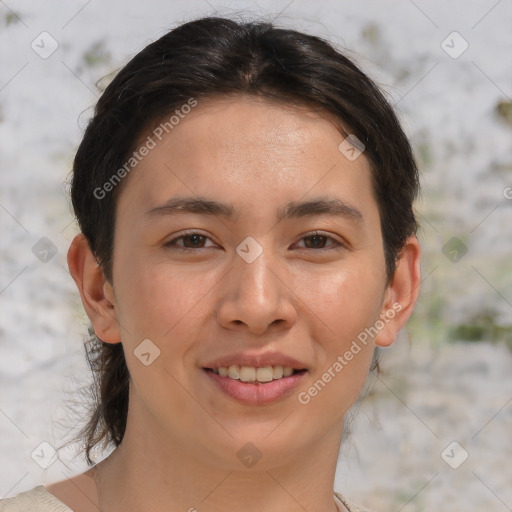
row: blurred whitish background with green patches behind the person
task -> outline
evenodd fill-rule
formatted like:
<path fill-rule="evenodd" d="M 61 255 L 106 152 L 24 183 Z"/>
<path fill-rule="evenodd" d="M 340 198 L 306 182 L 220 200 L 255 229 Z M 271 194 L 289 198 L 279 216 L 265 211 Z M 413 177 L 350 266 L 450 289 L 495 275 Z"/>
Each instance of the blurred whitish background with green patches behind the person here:
<path fill-rule="evenodd" d="M 212 14 L 345 49 L 421 166 L 421 296 L 353 409 L 336 490 L 375 512 L 512 510 L 510 0 L 0 1 L 0 497 L 87 469 L 72 446 L 52 455 L 89 383 L 66 252 L 92 108 L 145 45 Z"/>

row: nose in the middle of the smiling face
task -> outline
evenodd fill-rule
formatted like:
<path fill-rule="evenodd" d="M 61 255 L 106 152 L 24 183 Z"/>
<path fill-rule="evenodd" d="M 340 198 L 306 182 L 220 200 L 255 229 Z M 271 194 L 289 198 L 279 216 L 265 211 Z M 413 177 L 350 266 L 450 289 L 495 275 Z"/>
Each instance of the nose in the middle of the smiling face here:
<path fill-rule="evenodd" d="M 269 329 L 289 329 L 296 321 L 293 283 L 283 266 L 267 257 L 270 251 L 264 249 L 252 263 L 235 256 L 220 288 L 217 320 L 222 327 L 262 335 Z"/>

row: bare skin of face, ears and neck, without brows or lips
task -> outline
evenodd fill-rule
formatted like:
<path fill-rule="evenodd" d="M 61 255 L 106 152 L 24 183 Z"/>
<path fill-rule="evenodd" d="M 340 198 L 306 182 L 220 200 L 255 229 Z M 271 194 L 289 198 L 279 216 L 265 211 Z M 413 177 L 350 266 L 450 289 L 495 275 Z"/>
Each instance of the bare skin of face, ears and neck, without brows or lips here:
<path fill-rule="evenodd" d="M 311 110 L 245 96 L 200 102 L 124 183 L 112 283 L 84 237 L 74 239 L 69 268 L 96 334 L 124 346 L 130 409 L 121 446 L 50 492 L 76 511 L 337 510 L 344 414 L 375 346 L 391 345 L 406 324 L 420 283 L 415 237 L 386 278 L 369 163 L 364 153 L 349 161 L 338 150 L 343 139 Z M 178 195 L 231 202 L 237 214 L 146 214 Z M 276 220 L 286 203 L 318 197 L 341 199 L 362 219 Z M 186 230 L 207 238 L 176 241 L 185 251 L 165 246 Z M 315 230 L 331 238 L 315 245 L 307 238 Z M 236 252 L 248 236 L 263 250 L 252 263 Z M 401 310 L 301 404 L 298 393 L 393 304 Z M 161 353 L 145 366 L 134 350 L 148 338 Z M 299 389 L 276 403 L 240 404 L 202 370 L 226 354 L 265 350 L 308 369 Z M 262 454 L 252 468 L 237 457 L 247 442 Z"/>

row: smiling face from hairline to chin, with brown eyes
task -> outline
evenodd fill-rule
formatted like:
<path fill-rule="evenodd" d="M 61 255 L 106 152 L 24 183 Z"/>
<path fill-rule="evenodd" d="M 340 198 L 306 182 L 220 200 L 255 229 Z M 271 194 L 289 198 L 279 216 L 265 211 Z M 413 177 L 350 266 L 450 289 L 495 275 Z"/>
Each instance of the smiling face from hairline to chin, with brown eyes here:
<path fill-rule="evenodd" d="M 341 432 L 400 309 L 344 138 L 305 109 L 208 100 L 127 178 L 105 294 L 141 428 L 225 467 L 247 442 L 271 465 Z"/>

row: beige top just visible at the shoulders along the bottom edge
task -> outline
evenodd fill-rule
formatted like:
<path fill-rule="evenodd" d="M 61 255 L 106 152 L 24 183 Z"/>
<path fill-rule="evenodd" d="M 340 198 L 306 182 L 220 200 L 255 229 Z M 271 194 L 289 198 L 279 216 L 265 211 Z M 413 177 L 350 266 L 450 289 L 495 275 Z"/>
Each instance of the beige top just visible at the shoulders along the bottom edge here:
<path fill-rule="evenodd" d="M 349 505 L 345 498 L 334 493 L 334 496 L 341 502 L 349 512 L 367 512 L 364 509 Z M 341 511 L 340 503 L 338 508 Z M 0 512 L 73 512 L 69 507 L 64 505 L 53 494 L 50 494 L 46 487 L 38 485 L 30 491 L 19 493 L 13 498 L 0 500 Z"/>

